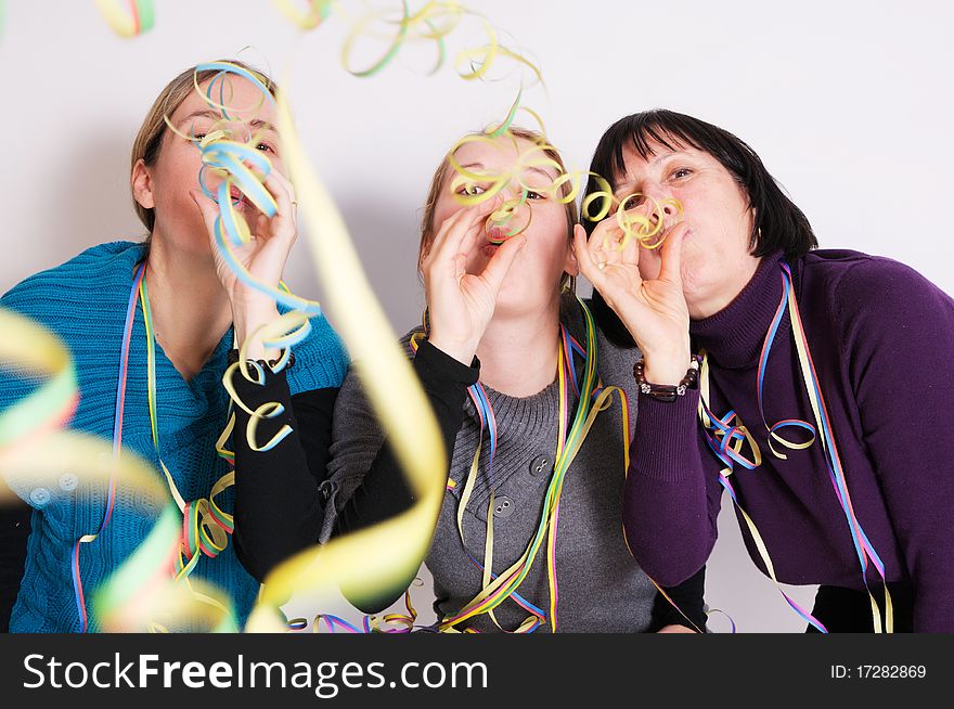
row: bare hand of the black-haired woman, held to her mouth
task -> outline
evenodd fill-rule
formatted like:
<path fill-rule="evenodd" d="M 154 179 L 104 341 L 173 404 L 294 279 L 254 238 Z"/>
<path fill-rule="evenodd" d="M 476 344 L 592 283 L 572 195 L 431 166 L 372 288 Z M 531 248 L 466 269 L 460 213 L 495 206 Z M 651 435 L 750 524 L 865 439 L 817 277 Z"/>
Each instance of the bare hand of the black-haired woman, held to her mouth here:
<path fill-rule="evenodd" d="M 620 248 L 624 234 L 615 215 L 596 225 L 589 242 L 582 225 L 573 229 L 580 270 L 640 346 L 646 379 L 654 384 L 679 384 L 689 363 L 689 313 L 680 270 L 685 232 L 685 222 L 667 230 L 659 275 L 644 281 L 640 243 L 630 239 Z"/>

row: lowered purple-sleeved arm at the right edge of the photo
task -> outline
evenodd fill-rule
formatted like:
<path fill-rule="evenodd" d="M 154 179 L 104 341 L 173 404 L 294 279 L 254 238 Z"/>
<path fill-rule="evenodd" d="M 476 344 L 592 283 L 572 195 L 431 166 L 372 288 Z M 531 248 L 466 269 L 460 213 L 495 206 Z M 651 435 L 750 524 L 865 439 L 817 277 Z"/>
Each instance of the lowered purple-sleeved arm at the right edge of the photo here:
<path fill-rule="evenodd" d="M 954 300 L 906 266 L 869 259 L 840 280 L 833 308 L 914 581 L 914 630 L 954 632 Z"/>

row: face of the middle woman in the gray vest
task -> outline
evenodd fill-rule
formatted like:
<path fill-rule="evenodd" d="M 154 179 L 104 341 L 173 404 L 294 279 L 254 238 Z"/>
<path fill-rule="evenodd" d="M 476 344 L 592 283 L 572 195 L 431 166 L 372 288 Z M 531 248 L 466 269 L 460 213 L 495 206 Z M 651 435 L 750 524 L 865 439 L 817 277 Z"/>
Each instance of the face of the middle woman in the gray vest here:
<path fill-rule="evenodd" d="M 493 177 L 514 171 L 519 157 L 533 143 L 524 139 L 501 137 L 492 142 L 477 141 L 465 143 L 454 152 L 454 159 L 468 172 L 486 173 L 486 182 L 473 182 L 454 186 L 456 172 L 448 170 L 444 183 L 434 210 L 434 228 L 440 225 L 451 215 L 463 209 L 453 196 L 477 194 L 489 190 Z M 542 153 L 534 152 L 534 157 Z M 510 183 L 494 197 L 497 204 L 506 199 L 519 199 L 521 186 L 519 181 L 529 189 L 526 204 L 518 207 L 502 229 L 511 230 L 526 223 L 529 227 L 523 234 L 527 237 L 526 246 L 517 254 L 513 266 L 507 272 L 497 299 L 495 313 L 517 314 L 528 309 L 543 308 L 551 305 L 559 292 L 563 274 L 576 275 L 578 272 L 576 257 L 569 240 L 566 206 L 551 196 L 546 188 L 557 178 L 556 168 L 550 166 L 527 167 L 515 175 Z M 537 188 L 534 190 L 533 188 Z M 505 237 L 500 228 L 490 227 L 478 237 L 475 247 L 467 255 L 466 270 L 479 274 L 487 268 L 490 258 L 497 253 L 498 241 Z"/>

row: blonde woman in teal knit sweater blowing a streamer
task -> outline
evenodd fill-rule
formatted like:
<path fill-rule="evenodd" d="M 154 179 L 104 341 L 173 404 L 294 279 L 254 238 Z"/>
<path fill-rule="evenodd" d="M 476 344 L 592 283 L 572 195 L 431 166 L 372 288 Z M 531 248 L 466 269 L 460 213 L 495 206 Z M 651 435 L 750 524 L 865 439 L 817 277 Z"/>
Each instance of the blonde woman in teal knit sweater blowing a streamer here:
<path fill-rule="evenodd" d="M 80 387 L 72 427 L 105 439 L 112 439 L 121 427 L 123 444 L 153 462 L 157 476 L 163 475 L 158 472 L 162 461 L 185 501 L 208 499 L 212 486 L 229 472 L 228 463 L 216 452 L 216 440 L 227 422 L 228 394 L 221 379 L 230 349 L 278 315 L 275 300 L 236 279 L 211 245 L 209 224 L 215 204 L 199 190 L 199 151 L 183 136 L 199 139 L 212 125 L 220 125 L 223 116 L 195 91 L 194 76 L 202 89 L 219 81 L 230 105 L 252 107 L 230 113 L 231 129 L 259 136 L 255 147 L 273 167 L 263 181 L 278 205 L 273 217 L 262 215 L 241 193 L 231 195 L 255 235 L 250 244 L 236 250 L 238 260 L 256 281 L 275 287 L 297 235 L 294 191 L 282 176 L 279 141 L 271 128 L 275 123 L 272 102 L 263 100 L 261 88 L 242 75 L 248 67 L 237 62 L 232 65 L 240 70 L 222 74 L 201 65 L 177 76 L 158 95 L 140 128 L 130 182 L 137 214 L 149 230 L 145 243 L 94 246 L 28 278 L 0 299 L 0 306 L 36 319 L 68 347 Z M 274 93 L 268 77 L 248 76 Z M 167 116 L 176 131 L 167 126 Z M 144 291 L 138 288 L 140 279 Z M 152 315 L 152 338 L 144 326 L 146 307 Z M 126 332 L 129 335 L 124 338 Z M 152 384 L 146 368 L 150 347 L 156 358 Z M 295 346 L 294 354 L 296 362 L 286 374 L 293 396 L 302 390 L 337 389 L 347 369 L 347 354 L 322 317 L 311 319 L 311 333 Z M 272 353 L 259 346 L 249 357 L 269 359 Z M 126 368 L 121 378 L 120 366 Z M 152 414 L 151 386 L 156 394 Z M 0 373 L 0 411 L 26 394 L 26 385 Z M 120 400 L 123 418 L 117 426 Z M 152 439 L 152 417 L 158 427 L 158 446 Z M 11 485 L 33 507 L 11 630 L 96 630 L 88 592 L 145 539 L 154 517 L 146 514 L 134 493 L 111 500 L 105 491 L 82 482 L 76 489 L 64 485 L 55 490 Z M 231 512 L 233 497 L 234 491 L 227 489 L 216 503 Z M 107 506 L 112 506 L 111 515 Z M 7 584 L 2 595 L 8 598 L 20 580 L 16 545 L 23 542 L 17 533 L 25 526 L 14 527 L 9 521 L 16 514 L 4 512 L 7 528 L 0 531 L 2 558 L 14 565 L 8 566 L 2 577 Z M 106 518 L 108 524 L 103 527 Z M 94 542 L 78 542 L 98 532 Z M 241 622 L 252 607 L 258 583 L 238 564 L 231 539 L 215 557 L 197 550 L 195 554 L 199 558 L 192 573 L 224 590 Z M 5 615 L 2 608 L 0 615 Z"/>

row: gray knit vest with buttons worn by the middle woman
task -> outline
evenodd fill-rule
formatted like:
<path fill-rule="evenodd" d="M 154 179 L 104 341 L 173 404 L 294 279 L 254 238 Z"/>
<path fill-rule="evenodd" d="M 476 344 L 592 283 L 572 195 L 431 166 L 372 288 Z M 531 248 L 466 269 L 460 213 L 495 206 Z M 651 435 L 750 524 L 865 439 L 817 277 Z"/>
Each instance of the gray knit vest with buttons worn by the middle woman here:
<path fill-rule="evenodd" d="M 564 298 L 560 319 L 585 347 L 583 315 L 576 299 Z M 402 341 L 407 344 L 414 332 L 417 331 L 408 333 Z M 619 386 L 627 392 L 629 438 L 636 403 L 632 368 L 639 352 L 616 347 L 598 330 L 596 339 L 597 373 L 603 384 Z M 580 369 L 578 360 L 578 373 Z M 484 388 L 498 426 L 493 479 L 489 469 L 490 447 L 485 435 L 477 481 L 464 514 L 462 544 L 456 526 L 457 505 L 480 440 L 480 421 L 468 397 L 450 466 L 450 479 L 456 485 L 444 495 L 434 542 L 425 559 L 434 576 L 438 618 L 455 614 L 480 592 L 480 570 L 467 554 L 482 563 L 491 489 L 494 492 L 492 568 L 499 573 L 523 555 L 532 539 L 553 474 L 559 416 L 557 382 L 526 398 Z M 576 407 L 576 397 L 572 405 Z M 334 525 L 336 512 L 361 484 L 383 440 L 379 424 L 352 368 L 335 404 L 328 475 L 337 492 L 334 503 L 328 505 L 324 538 Z M 615 395 L 613 405 L 597 415 L 564 481 L 556 541 L 557 630 L 560 632 L 643 632 L 649 626 L 656 589 L 630 556 L 622 537 L 624 444 L 622 405 Z M 517 593 L 549 616 L 545 538 Z M 494 615 L 503 629 L 514 630 L 529 614 L 507 600 Z M 457 629 L 464 627 L 481 632 L 498 630 L 486 615 Z M 538 632 L 550 629 L 547 623 Z"/>

